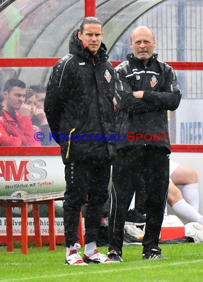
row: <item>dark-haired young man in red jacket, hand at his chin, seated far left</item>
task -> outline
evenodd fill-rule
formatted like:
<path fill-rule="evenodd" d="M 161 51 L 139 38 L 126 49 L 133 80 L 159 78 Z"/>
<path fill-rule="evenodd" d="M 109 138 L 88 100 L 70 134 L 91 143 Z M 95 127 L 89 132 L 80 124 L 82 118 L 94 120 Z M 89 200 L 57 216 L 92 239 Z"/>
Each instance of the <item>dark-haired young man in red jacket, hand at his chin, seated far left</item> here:
<path fill-rule="evenodd" d="M 6 81 L 1 125 L 8 136 L 19 138 L 21 146 L 34 146 L 34 130 L 30 120 L 31 107 L 24 103 L 26 85 L 18 79 Z M 14 145 L 14 144 L 13 144 Z"/>

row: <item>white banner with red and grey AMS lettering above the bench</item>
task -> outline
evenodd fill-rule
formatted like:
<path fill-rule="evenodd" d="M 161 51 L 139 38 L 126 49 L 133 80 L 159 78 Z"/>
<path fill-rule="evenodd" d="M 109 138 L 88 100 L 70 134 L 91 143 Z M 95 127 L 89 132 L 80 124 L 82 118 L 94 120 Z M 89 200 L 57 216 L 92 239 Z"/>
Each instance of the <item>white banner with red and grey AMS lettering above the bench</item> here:
<path fill-rule="evenodd" d="M 0 196 L 66 190 L 64 169 L 60 155 L 0 156 Z"/>

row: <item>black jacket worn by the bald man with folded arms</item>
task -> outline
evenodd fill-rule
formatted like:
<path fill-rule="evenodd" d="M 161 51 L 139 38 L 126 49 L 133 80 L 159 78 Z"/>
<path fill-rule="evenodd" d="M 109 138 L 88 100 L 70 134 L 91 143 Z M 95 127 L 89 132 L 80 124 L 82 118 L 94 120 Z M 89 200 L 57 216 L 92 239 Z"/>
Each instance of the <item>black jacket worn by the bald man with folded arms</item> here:
<path fill-rule="evenodd" d="M 166 147 L 170 151 L 168 114 L 181 99 L 173 69 L 153 54 L 146 67 L 142 60 L 128 54 L 115 68 L 117 148 L 137 145 Z M 143 91 L 142 99 L 134 91 Z"/>

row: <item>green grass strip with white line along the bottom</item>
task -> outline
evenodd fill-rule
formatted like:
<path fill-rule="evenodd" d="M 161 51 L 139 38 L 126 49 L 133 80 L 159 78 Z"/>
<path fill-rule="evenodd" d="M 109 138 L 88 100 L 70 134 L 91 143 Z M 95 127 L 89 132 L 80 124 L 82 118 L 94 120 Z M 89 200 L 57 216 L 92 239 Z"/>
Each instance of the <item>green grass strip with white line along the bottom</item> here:
<path fill-rule="evenodd" d="M 65 246 L 29 245 L 27 255 L 20 245 L 13 253 L 0 247 L 0 282 L 202 282 L 203 243 L 160 245 L 167 260 L 142 260 L 142 246 L 124 246 L 123 263 L 65 266 Z M 107 247 L 99 247 L 106 253 Z M 84 249 L 81 248 L 83 254 Z"/>

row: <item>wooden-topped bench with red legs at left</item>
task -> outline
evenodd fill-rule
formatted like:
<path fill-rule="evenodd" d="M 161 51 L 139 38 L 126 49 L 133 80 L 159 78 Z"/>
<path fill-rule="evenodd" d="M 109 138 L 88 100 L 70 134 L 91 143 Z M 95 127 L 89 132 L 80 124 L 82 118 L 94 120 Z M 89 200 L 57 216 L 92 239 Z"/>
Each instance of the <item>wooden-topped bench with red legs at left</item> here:
<path fill-rule="evenodd" d="M 0 196 L 0 207 L 5 208 L 6 213 L 6 241 L 7 251 L 13 251 L 13 229 L 12 229 L 12 208 L 21 208 L 21 253 L 28 253 L 28 205 L 33 205 L 34 218 L 34 242 L 36 247 L 42 246 L 41 232 L 40 232 L 40 217 L 38 205 L 48 205 L 48 219 L 49 219 L 49 249 L 56 249 L 55 237 L 55 200 L 63 200 L 64 191 L 38 193 L 18 196 Z M 80 221 L 78 227 L 79 243 L 84 246 L 82 213 L 80 213 Z"/>

